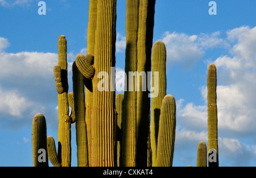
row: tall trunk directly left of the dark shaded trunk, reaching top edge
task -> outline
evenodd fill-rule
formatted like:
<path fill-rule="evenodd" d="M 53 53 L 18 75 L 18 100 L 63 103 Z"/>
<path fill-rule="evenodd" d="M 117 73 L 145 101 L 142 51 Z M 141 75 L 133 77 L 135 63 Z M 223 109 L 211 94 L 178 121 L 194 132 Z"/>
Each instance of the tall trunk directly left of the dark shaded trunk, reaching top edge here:
<path fill-rule="evenodd" d="M 137 107 L 135 77 L 130 75 L 137 71 L 137 40 L 138 40 L 138 0 L 126 2 L 126 50 L 125 50 L 125 94 L 123 99 L 122 118 L 122 166 L 136 166 L 136 124 Z M 129 73 L 130 72 L 130 73 Z"/>

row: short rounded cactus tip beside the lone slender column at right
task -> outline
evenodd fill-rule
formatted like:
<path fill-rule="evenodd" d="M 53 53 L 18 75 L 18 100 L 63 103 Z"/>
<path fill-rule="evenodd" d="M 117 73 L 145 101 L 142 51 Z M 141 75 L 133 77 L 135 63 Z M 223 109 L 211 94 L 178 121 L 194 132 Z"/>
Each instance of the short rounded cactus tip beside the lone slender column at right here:
<path fill-rule="evenodd" d="M 197 167 L 207 167 L 207 145 L 205 142 L 200 142 L 197 146 Z"/>

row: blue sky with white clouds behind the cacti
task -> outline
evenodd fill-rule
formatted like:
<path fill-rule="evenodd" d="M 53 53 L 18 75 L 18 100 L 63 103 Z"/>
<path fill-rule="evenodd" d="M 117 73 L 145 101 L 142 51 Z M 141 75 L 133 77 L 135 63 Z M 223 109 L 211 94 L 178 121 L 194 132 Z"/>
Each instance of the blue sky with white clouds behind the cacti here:
<path fill-rule="evenodd" d="M 68 42 L 72 62 L 86 54 L 89 1 L 0 0 L 0 166 L 33 166 L 31 128 L 36 113 L 57 140 L 57 93 L 53 66 L 57 39 Z M 156 0 L 153 43 L 167 48 L 167 94 L 176 99 L 173 166 L 196 166 L 197 146 L 208 143 L 207 69 L 217 67 L 220 166 L 256 166 L 256 23 L 253 0 Z M 117 0 L 116 67 L 125 68 L 126 1 Z M 76 166 L 72 125 L 72 166 Z"/>

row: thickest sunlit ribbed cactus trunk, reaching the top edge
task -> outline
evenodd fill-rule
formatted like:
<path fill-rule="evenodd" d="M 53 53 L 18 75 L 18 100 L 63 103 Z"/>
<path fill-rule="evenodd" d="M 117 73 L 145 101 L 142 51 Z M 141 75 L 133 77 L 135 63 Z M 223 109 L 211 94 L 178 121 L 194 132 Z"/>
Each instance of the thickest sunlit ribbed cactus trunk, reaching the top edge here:
<path fill-rule="evenodd" d="M 115 91 L 110 91 L 113 82 L 110 78 L 111 67 L 115 66 L 115 7 L 116 0 L 98 0 L 94 46 L 94 68 L 96 72 L 92 80 L 91 166 L 116 166 Z M 104 73 L 101 73 L 102 71 Z M 108 74 L 108 76 L 102 77 L 100 74 Z M 98 88 L 98 84 L 102 83 L 101 80 L 104 80 L 102 85 L 105 88 L 109 86 L 109 91 L 98 90 L 101 89 Z"/>

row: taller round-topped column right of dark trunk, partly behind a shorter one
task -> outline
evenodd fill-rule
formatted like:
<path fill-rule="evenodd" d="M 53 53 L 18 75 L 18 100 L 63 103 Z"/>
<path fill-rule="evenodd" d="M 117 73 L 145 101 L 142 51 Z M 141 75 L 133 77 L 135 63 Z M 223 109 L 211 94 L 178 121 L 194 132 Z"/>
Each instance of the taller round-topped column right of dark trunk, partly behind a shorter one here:
<path fill-rule="evenodd" d="M 158 74 L 156 75 L 155 74 Z M 155 81 L 157 81 L 155 83 Z M 162 41 L 156 41 L 152 50 L 152 86 L 154 86 L 156 97 L 151 101 L 151 150 L 152 166 L 156 164 L 156 147 L 158 144 L 158 128 L 160 109 L 164 96 L 166 96 L 166 45 Z"/>

